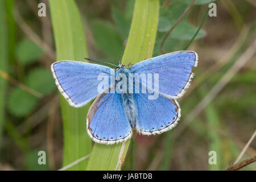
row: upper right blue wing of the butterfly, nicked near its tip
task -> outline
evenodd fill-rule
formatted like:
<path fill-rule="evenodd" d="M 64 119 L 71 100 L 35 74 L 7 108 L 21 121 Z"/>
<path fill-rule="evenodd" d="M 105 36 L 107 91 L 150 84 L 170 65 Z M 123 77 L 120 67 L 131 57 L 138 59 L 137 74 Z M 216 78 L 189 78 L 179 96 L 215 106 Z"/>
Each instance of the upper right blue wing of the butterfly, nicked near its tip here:
<path fill-rule="evenodd" d="M 131 73 L 158 73 L 159 85 L 152 90 L 159 92 L 164 97 L 176 99 L 185 93 L 189 82 L 193 77 L 192 68 L 197 66 L 198 56 L 196 52 L 179 51 L 167 53 L 141 61 L 130 68 Z M 142 86 L 148 87 L 146 82 Z"/>

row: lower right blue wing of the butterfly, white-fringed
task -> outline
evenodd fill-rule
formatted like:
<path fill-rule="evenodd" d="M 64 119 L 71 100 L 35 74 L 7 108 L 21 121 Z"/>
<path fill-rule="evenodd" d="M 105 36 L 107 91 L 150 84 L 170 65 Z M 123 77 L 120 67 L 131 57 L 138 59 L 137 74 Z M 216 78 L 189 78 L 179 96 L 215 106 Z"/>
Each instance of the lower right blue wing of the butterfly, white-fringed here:
<path fill-rule="evenodd" d="M 134 94 L 137 106 L 136 130 L 143 135 L 155 135 L 171 130 L 180 119 L 180 106 L 176 100 L 160 96 L 148 100 L 149 94 Z"/>

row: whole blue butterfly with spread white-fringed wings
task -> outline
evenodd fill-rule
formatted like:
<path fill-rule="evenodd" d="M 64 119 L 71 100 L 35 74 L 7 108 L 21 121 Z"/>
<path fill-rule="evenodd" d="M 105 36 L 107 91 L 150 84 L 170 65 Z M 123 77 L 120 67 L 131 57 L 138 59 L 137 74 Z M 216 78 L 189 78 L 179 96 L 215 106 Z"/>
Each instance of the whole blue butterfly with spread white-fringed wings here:
<path fill-rule="evenodd" d="M 197 60 L 196 52 L 178 51 L 141 61 L 130 69 L 121 63 L 114 71 L 98 64 L 57 61 L 51 65 L 51 71 L 60 93 L 71 106 L 81 107 L 96 98 L 86 117 L 87 132 L 94 142 L 114 144 L 131 138 L 133 129 L 143 135 L 155 135 L 177 125 L 181 110 L 176 99 L 189 87 Z M 110 78 L 120 73 L 154 74 L 158 83 L 133 80 L 133 91 L 144 88 L 146 92 L 119 93 L 113 92 L 118 84 L 115 79 L 114 84 L 109 81 L 105 90 L 108 92 L 98 92 L 102 82 L 98 75 Z M 158 97 L 150 99 L 152 93 Z"/>

